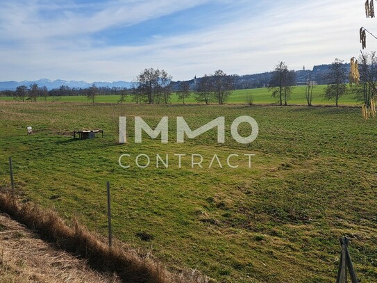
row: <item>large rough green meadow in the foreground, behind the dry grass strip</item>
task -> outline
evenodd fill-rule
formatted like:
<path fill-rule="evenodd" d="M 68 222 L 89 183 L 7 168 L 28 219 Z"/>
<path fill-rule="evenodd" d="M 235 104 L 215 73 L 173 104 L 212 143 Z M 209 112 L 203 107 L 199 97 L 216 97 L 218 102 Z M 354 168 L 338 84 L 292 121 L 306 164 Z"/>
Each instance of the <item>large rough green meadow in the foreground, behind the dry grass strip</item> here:
<path fill-rule="evenodd" d="M 261 90 L 247 91 L 267 103 L 257 98 Z M 243 95 L 236 92 L 234 102 Z M 119 115 L 128 117 L 126 145 L 116 143 Z M 169 143 L 143 136 L 135 144 L 136 115 L 151 126 L 168 116 Z M 226 143 L 216 143 L 214 130 L 176 143 L 178 115 L 192 129 L 225 116 Z M 259 124 L 250 145 L 229 134 L 240 115 Z M 105 136 L 73 140 L 75 128 L 100 128 Z M 242 125 L 240 134 L 249 129 Z M 376 140 L 377 120 L 363 120 L 359 108 L 0 102 L 0 185 L 10 184 L 12 156 L 22 200 L 77 216 L 106 235 L 110 181 L 116 238 L 170 269 L 196 268 L 217 282 L 335 282 L 344 235 L 358 277 L 375 282 Z M 131 155 L 124 159 L 131 168 L 119 166 L 121 154 Z M 148 168 L 137 168 L 138 154 L 151 157 Z M 156 154 L 169 154 L 169 168 L 156 168 Z M 182 168 L 174 154 L 186 154 Z M 203 168 L 191 167 L 190 154 L 202 154 Z M 208 168 L 214 154 L 224 168 Z M 239 154 L 231 159 L 239 168 L 226 166 L 230 154 Z M 251 168 L 243 154 L 255 154 Z"/>

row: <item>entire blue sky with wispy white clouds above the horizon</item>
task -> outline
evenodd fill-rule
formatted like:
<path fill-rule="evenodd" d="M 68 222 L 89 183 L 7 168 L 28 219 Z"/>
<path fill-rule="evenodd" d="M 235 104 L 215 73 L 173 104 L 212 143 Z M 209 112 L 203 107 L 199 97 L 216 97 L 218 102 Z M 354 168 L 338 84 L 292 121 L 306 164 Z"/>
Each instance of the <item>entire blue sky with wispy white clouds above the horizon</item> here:
<path fill-rule="evenodd" d="M 1 1 L 0 81 L 133 81 L 150 67 L 182 81 L 280 61 L 311 70 L 358 56 L 360 27 L 377 33 L 376 21 L 354 0 Z"/>

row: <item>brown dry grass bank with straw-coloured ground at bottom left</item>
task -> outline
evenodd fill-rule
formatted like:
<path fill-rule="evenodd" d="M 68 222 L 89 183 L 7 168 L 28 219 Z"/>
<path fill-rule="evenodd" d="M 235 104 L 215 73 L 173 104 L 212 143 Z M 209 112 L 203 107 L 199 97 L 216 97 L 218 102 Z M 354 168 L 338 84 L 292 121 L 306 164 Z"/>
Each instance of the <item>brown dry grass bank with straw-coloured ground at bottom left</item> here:
<path fill-rule="evenodd" d="M 89 232 L 76 220 L 69 227 L 56 211 L 42 210 L 29 203 L 18 204 L 11 195 L 0 194 L 0 210 L 33 229 L 45 241 L 54 243 L 56 248 L 81 258 L 57 250 L 47 251 L 47 243 L 1 216 L 1 282 L 208 282 L 195 270 L 180 275 L 169 273 L 151 256 L 140 257 L 121 243 L 109 248 L 103 237 Z"/>

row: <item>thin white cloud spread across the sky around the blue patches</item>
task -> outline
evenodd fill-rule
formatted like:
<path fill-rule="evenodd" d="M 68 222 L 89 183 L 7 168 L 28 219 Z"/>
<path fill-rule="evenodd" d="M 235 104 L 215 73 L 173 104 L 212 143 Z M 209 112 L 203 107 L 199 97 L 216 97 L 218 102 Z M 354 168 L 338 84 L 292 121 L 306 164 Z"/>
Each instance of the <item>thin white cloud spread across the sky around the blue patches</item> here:
<path fill-rule="evenodd" d="M 160 67 L 178 80 L 219 68 L 237 74 L 264 72 L 280 60 L 297 70 L 330 63 L 335 57 L 358 56 L 358 29 L 374 25 L 373 19 L 365 19 L 363 4 L 356 1 L 275 1 L 269 2 L 267 10 L 244 4 L 244 9 L 233 12 L 231 23 L 170 37 L 157 34 L 145 45 L 115 47 L 96 45 L 90 35 L 203 1 L 116 1 L 90 15 L 66 13 L 66 19 L 56 21 L 33 19 L 40 8 L 34 3 L 25 9 L 0 4 L 8 13 L 12 10 L 11 16 L 0 12 L 0 37 L 16 42 L 9 47 L 1 41 L 4 79 L 131 80 L 145 67 Z M 376 43 L 367 38 L 368 47 Z"/>

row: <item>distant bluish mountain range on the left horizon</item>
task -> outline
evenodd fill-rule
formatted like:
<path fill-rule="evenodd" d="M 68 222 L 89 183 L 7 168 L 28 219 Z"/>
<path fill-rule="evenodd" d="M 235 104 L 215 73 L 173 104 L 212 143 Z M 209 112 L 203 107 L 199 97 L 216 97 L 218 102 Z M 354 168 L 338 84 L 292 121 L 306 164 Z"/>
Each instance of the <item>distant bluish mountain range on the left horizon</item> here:
<path fill-rule="evenodd" d="M 31 86 L 33 83 L 37 83 L 38 86 L 46 86 L 48 90 L 53 88 L 60 88 L 60 86 L 69 86 L 69 88 L 88 88 L 92 86 L 92 83 L 87 83 L 86 81 L 64 81 L 62 79 L 57 79 L 51 81 L 49 79 L 39 79 L 37 81 L 0 81 L 0 90 L 15 90 L 17 86 Z M 131 82 L 129 81 L 113 81 L 112 83 L 107 81 L 94 81 L 97 87 L 109 88 L 129 88 Z"/>

